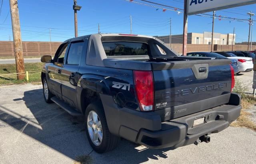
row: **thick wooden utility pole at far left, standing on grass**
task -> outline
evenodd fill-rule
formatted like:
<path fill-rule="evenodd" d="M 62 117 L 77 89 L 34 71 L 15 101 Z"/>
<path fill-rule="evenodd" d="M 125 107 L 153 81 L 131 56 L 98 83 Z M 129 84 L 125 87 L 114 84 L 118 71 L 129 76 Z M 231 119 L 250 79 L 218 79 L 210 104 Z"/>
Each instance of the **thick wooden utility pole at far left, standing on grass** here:
<path fill-rule="evenodd" d="M 14 42 L 14 53 L 16 61 L 16 71 L 17 73 L 24 73 L 24 59 L 23 59 L 23 50 L 20 34 L 20 17 L 18 9 L 18 0 L 10 0 L 10 12 L 12 17 L 12 35 Z M 18 80 L 24 79 L 24 74 L 17 75 Z"/>

